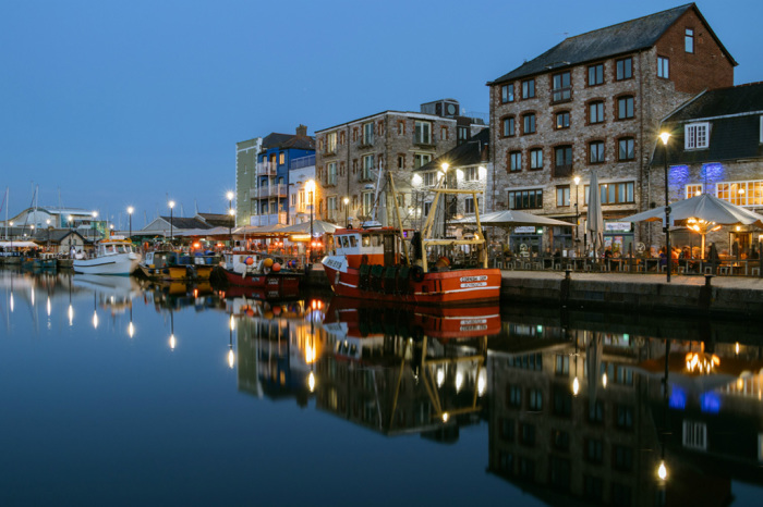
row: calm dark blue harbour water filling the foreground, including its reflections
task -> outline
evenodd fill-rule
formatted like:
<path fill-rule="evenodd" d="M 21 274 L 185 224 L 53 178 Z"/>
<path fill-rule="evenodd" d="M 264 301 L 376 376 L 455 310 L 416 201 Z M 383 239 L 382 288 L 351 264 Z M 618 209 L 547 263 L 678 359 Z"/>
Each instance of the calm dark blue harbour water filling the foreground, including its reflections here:
<path fill-rule="evenodd" d="M 268 296 L 0 271 L 0 505 L 763 503 L 759 322 Z"/>

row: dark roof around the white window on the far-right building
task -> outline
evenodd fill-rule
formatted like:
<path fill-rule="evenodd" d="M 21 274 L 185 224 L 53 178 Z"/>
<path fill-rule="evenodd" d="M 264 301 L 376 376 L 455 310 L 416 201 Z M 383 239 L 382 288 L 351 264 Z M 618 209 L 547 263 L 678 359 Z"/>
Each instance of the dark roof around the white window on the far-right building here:
<path fill-rule="evenodd" d="M 763 114 L 763 83 L 719 88 L 700 94 L 663 121 L 671 133 L 668 144 L 669 164 L 722 162 L 763 157 L 760 143 Z M 706 149 L 686 150 L 683 124 L 708 121 Z M 665 163 L 665 150 L 658 143 L 652 164 Z"/>

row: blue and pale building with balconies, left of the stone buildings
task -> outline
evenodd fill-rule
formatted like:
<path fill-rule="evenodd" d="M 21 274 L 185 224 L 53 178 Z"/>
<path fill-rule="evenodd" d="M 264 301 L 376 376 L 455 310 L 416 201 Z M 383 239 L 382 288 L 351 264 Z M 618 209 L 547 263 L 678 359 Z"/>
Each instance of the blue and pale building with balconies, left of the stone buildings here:
<path fill-rule="evenodd" d="M 300 125 L 295 135 L 272 133 L 235 146 L 237 224 L 287 224 L 291 161 L 315 153 L 307 127 Z"/>

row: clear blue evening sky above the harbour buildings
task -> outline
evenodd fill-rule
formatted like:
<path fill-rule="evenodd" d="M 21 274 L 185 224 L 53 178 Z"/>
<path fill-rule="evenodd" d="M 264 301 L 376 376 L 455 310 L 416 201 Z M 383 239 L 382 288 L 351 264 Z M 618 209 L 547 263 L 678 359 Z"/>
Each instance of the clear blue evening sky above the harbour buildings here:
<path fill-rule="evenodd" d="M 225 212 L 237 141 L 440 98 L 487 114 L 485 83 L 566 34 L 681 3 L 4 0 L 0 191 L 11 215 L 39 185 L 40 205 L 121 213 L 124 227 L 132 205 L 134 228 L 168 214 L 168 196 L 187 217 L 194 202 Z M 763 2 L 697 3 L 736 84 L 763 81 Z"/>

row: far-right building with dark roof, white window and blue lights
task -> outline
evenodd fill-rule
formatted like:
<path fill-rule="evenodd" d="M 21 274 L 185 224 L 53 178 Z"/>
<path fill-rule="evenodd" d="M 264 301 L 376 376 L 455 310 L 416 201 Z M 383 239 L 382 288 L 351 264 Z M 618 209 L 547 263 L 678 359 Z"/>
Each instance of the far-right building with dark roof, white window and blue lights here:
<path fill-rule="evenodd" d="M 763 211 L 763 83 L 704 91 L 667 116 L 661 129 L 670 134 L 670 202 L 704 193 L 758 213 Z M 659 143 L 647 180 L 654 196 L 650 208 L 665 206 L 665 147 Z M 688 230 L 673 234 L 676 246 L 700 244 L 699 235 Z M 711 233 L 707 239 L 716 243 L 719 252 L 729 253 L 738 240 L 744 253 L 759 243 L 759 235 L 756 228 L 741 225 Z"/>

